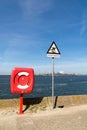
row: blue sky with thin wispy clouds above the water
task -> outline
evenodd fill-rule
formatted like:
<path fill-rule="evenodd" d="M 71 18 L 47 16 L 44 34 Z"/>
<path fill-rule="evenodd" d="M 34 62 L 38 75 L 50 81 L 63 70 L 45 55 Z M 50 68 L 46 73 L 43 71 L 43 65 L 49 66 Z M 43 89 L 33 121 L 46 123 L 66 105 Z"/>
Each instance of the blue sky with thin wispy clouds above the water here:
<path fill-rule="evenodd" d="M 55 72 L 87 74 L 86 0 L 0 1 L 0 74 L 14 67 L 51 73 L 46 52 L 55 41 Z"/>

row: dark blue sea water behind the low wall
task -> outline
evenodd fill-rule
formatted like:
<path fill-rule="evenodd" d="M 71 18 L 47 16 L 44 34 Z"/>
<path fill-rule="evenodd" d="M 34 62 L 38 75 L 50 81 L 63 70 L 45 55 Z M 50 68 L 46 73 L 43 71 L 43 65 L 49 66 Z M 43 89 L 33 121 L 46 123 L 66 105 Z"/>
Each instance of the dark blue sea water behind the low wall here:
<path fill-rule="evenodd" d="M 54 95 L 80 95 L 87 94 L 87 76 L 55 76 Z M 24 97 L 46 97 L 52 95 L 52 77 L 35 76 L 32 94 Z M 10 89 L 10 76 L 0 75 L 0 99 L 18 98 L 18 94 L 12 94 Z"/>

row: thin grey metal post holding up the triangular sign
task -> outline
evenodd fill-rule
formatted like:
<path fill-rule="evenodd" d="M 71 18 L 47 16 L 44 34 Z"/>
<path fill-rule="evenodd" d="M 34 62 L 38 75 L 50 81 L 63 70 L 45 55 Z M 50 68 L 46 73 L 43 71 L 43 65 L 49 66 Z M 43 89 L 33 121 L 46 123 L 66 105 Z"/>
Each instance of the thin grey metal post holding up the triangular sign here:
<path fill-rule="evenodd" d="M 52 108 L 54 109 L 54 57 L 52 57 Z"/>

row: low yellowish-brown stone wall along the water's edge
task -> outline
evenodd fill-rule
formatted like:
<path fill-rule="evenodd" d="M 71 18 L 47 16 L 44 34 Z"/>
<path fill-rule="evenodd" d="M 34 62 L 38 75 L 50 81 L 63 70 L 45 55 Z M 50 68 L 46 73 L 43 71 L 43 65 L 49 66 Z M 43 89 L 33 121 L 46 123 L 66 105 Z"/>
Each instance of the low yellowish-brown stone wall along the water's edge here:
<path fill-rule="evenodd" d="M 19 99 L 1 99 L 0 108 L 19 108 Z M 54 97 L 55 108 L 70 107 L 76 105 L 87 104 L 87 95 L 75 95 L 75 96 L 58 96 Z M 52 109 L 52 97 L 42 98 L 24 98 L 23 110 L 36 112 L 37 110 Z"/>

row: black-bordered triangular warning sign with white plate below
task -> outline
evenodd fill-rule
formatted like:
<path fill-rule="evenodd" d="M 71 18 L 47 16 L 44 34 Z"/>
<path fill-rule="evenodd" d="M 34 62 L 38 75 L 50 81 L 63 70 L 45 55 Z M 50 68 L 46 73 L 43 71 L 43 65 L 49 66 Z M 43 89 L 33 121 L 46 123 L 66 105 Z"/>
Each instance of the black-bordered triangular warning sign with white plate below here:
<path fill-rule="evenodd" d="M 48 57 L 58 57 L 60 56 L 60 51 L 56 45 L 56 43 L 53 41 L 50 48 L 47 51 Z"/>

